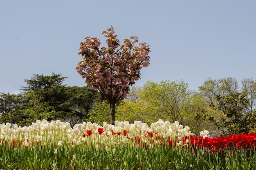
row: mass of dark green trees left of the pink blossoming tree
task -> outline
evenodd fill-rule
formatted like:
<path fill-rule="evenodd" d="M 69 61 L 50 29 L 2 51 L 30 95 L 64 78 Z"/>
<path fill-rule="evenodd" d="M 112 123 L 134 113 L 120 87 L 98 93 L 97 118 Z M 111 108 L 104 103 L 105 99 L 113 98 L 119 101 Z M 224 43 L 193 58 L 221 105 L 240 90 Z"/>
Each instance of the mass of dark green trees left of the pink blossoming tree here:
<path fill-rule="evenodd" d="M 69 121 L 72 126 L 87 121 L 88 112 L 102 101 L 90 87 L 62 85 L 66 77 L 34 75 L 26 79 L 19 95 L 0 93 L 0 122 L 27 126 L 36 119 Z"/>

